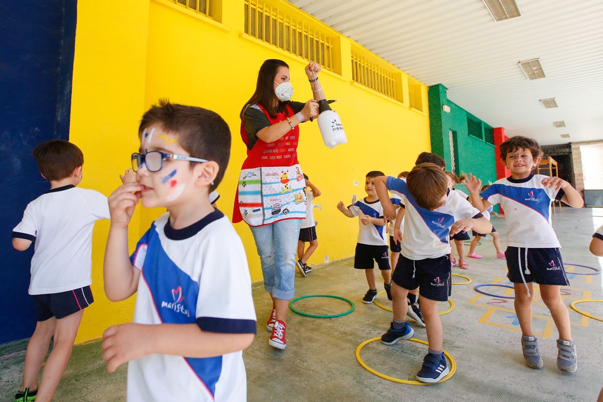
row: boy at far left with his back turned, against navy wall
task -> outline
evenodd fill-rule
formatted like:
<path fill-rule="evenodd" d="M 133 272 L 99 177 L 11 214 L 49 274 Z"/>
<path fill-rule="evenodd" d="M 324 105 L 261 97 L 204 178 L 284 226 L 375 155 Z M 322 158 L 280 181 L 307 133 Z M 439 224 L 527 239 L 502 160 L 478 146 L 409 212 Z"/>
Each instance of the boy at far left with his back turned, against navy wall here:
<path fill-rule="evenodd" d="M 109 219 L 107 197 L 76 187 L 82 178 L 84 155 L 64 140 L 37 146 L 34 157 L 50 190 L 31 201 L 13 229 L 13 247 L 24 251 L 34 242 L 29 293 L 36 309 L 36 330 L 27 344 L 23 383 L 15 401 L 51 401 L 69 362 L 84 309 L 94 301 L 92 229 Z M 52 351 L 37 378 L 48 353 Z M 36 399 L 37 398 L 37 399 Z"/>

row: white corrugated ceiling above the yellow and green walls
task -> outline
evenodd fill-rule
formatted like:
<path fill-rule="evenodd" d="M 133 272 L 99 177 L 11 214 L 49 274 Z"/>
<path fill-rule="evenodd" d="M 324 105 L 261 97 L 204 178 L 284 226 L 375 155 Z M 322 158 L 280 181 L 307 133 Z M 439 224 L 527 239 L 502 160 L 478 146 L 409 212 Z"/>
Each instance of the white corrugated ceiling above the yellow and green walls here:
<path fill-rule="evenodd" d="M 602 0 L 517 0 L 522 16 L 500 22 L 481 0 L 289 1 L 423 83 L 444 84 L 508 136 L 603 139 Z M 538 57 L 546 78 L 529 81 L 517 62 Z M 553 127 L 559 120 L 566 127 Z"/>

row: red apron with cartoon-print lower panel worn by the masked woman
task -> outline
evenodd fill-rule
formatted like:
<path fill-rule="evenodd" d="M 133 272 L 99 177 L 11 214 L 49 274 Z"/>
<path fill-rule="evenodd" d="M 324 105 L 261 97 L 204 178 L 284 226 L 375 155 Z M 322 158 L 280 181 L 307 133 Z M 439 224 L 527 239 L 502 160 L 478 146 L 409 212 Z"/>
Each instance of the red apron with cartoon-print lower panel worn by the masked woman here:
<path fill-rule="evenodd" d="M 257 105 L 270 124 L 280 123 L 293 110 L 286 105 L 283 113 L 271 118 L 268 112 Z M 306 181 L 297 161 L 299 126 L 290 130 L 274 142 L 257 139 L 247 159 L 241 166 L 239 184 L 235 195 L 233 222 L 245 221 L 250 226 L 269 225 L 282 219 L 306 217 Z M 241 122 L 241 138 L 248 143 L 245 125 Z"/>

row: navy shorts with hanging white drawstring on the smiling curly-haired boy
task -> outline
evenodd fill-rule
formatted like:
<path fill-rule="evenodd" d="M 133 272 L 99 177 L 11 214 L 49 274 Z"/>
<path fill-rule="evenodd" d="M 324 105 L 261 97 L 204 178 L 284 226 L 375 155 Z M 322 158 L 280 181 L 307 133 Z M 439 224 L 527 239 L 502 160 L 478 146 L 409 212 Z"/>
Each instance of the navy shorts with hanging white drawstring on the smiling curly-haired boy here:
<path fill-rule="evenodd" d="M 526 251 L 528 252 L 527 263 Z M 526 282 L 538 284 L 569 286 L 558 248 L 507 247 L 505 257 L 509 270 L 507 278 L 513 283 L 523 283 L 523 279 L 525 279 Z"/>

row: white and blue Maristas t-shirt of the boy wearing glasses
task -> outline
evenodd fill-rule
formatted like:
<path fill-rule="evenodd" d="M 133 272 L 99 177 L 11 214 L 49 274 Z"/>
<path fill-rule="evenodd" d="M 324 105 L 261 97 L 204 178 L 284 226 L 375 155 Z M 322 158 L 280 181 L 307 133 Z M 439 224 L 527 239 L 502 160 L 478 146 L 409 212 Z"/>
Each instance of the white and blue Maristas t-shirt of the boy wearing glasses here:
<path fill-rule="evenodd" d="M 141 270 L 134 322 L 197 324 L 214 333 L 256 333 L 247 258 L 229 219 L 215 210 L 175 230 L 153 222 L 130 257 Z M 150 354 L 128 363 L 129 402 L 245 401 L 242 351 L 204 359 Z"/>

